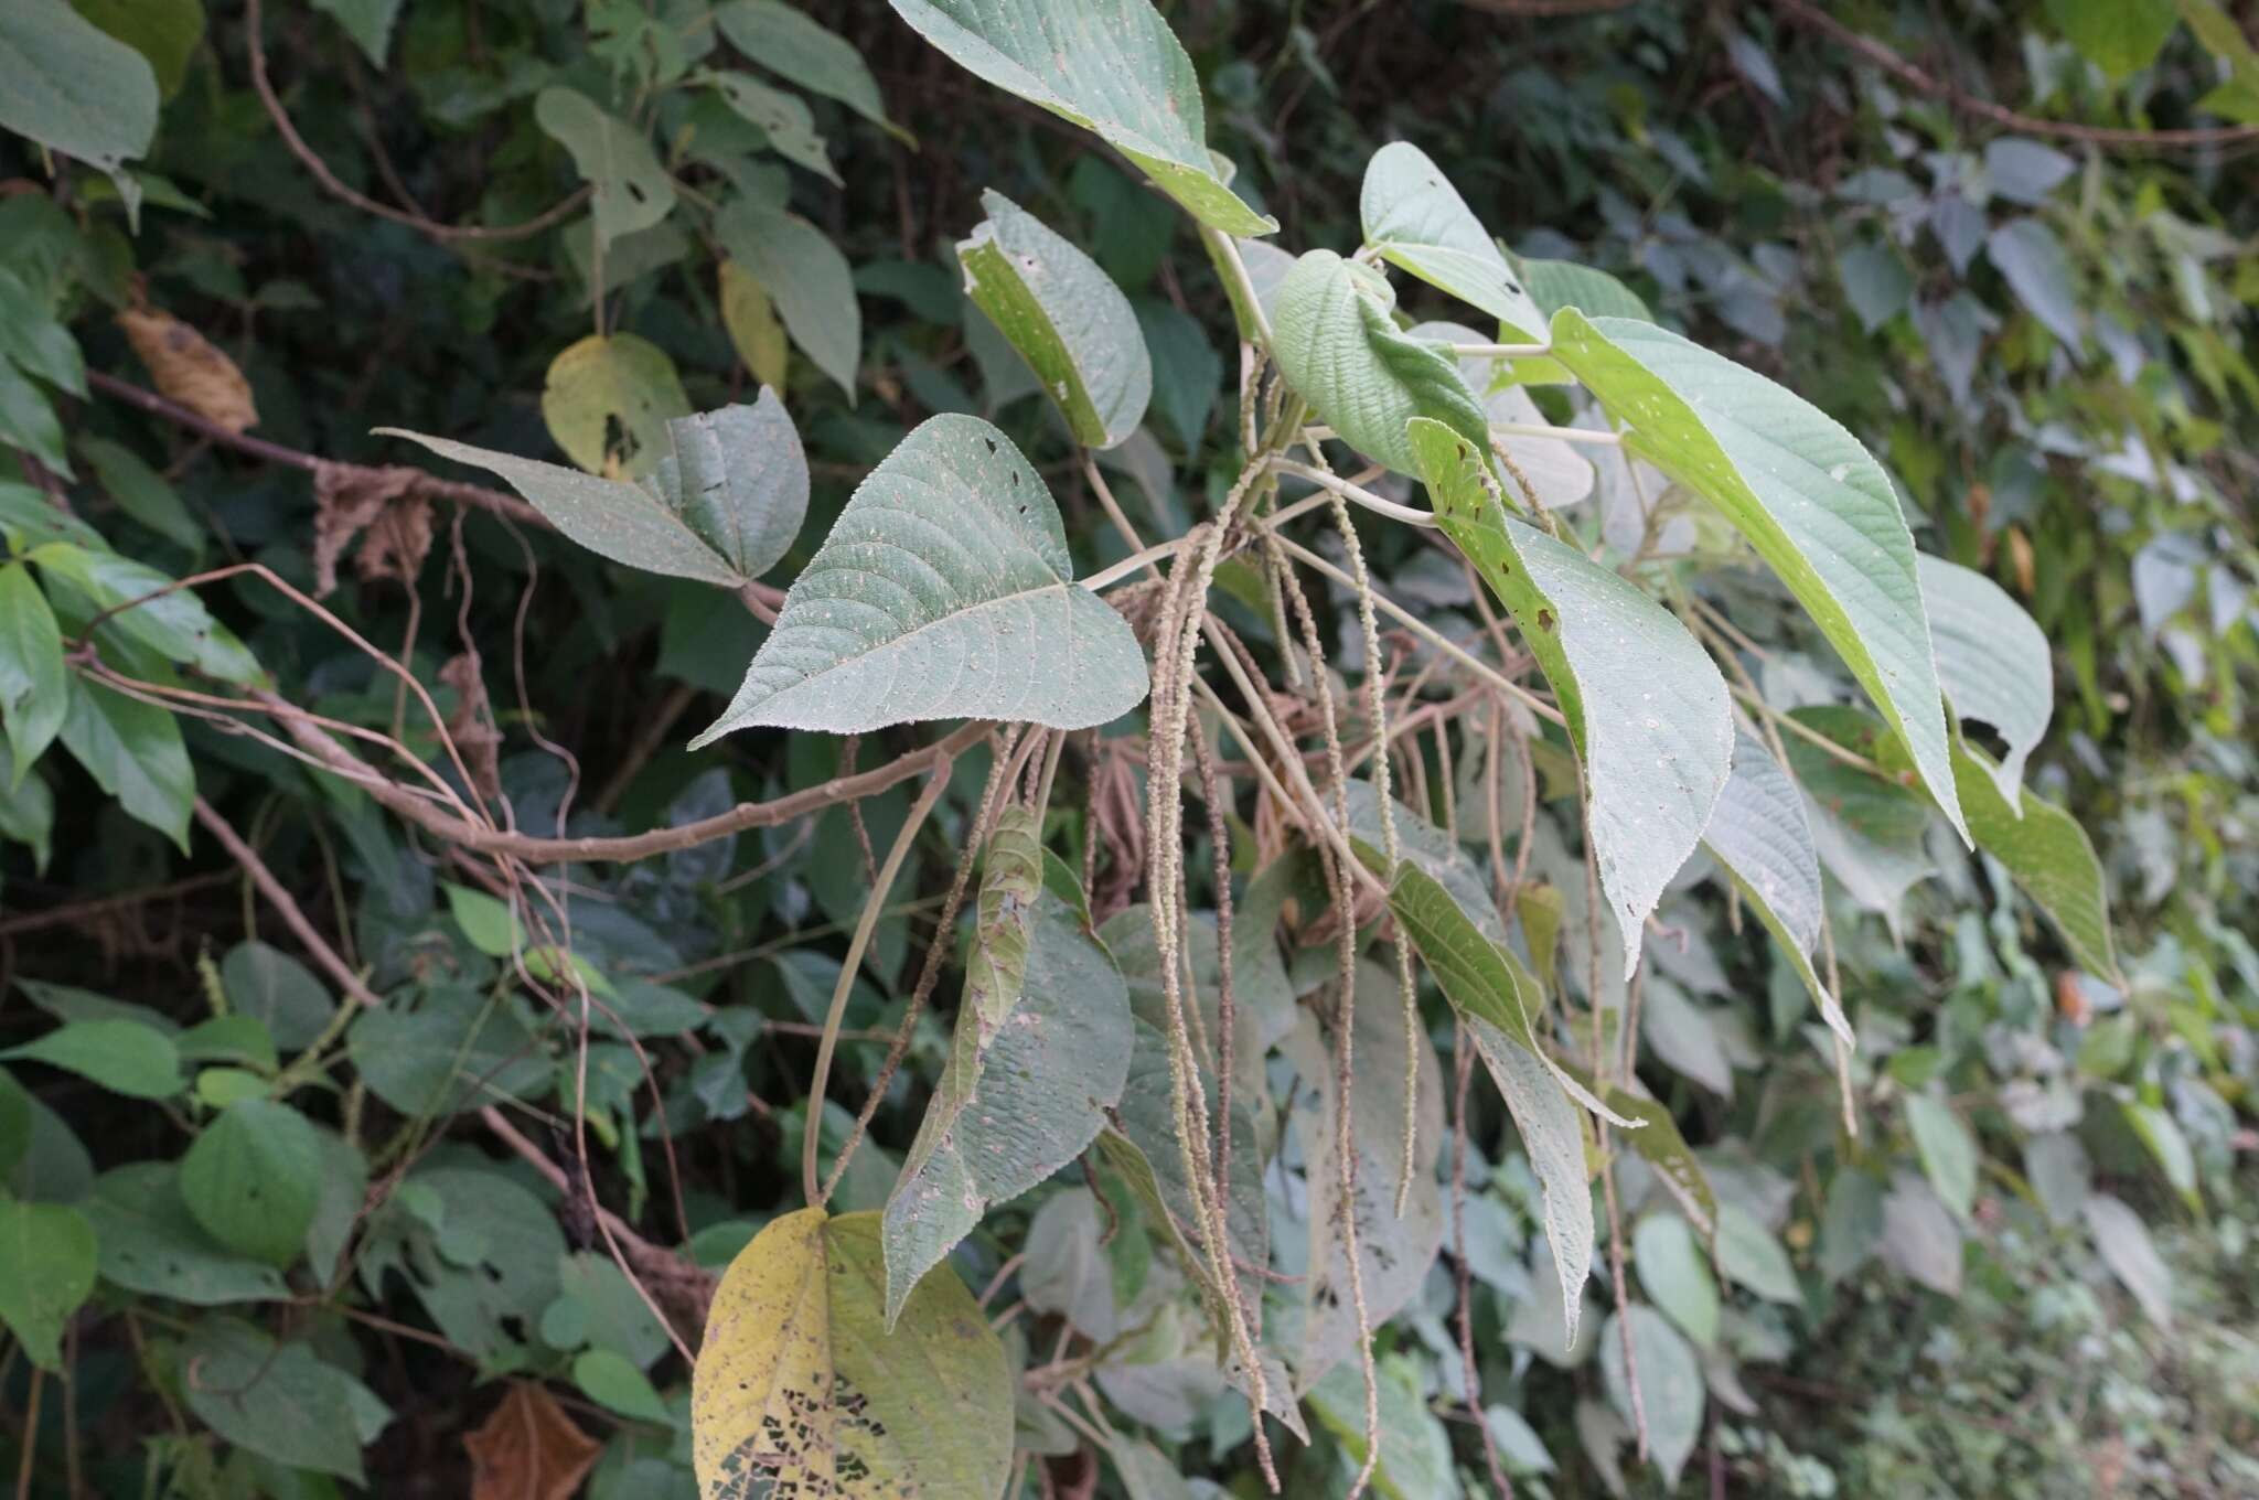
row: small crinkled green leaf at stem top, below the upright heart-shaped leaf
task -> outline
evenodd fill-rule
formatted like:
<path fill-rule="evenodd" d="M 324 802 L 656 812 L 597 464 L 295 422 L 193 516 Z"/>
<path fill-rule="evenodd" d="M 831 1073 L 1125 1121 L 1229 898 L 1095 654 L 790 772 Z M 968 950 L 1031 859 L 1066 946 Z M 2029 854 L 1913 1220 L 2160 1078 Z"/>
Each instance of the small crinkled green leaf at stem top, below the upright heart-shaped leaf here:
<path fill-rule="evenodd" d="M 1279 368 L 1344 443 L 1403 474 L 1419 461 L 1405 422 L 1434 418 L 1489 452 L 1482 402 L 1444 350 L 1396 330 L 1387 276 L 1310 251 L 1279 282 L 1272 312 Z"/>

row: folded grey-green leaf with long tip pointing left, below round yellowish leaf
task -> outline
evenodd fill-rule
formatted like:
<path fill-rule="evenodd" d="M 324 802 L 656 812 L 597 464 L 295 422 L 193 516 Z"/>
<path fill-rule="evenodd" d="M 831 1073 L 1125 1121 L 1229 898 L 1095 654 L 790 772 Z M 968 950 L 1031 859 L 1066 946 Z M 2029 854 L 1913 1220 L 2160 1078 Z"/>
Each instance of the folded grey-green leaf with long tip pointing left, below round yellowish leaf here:
<path fill-rule="evenodd" d="M 648 574 L 739 587 L 791 551 L 809 513 L 809 459 L 766 386 L 750 407 L 666 422 L 666 445 L 635 483 L 400 427 L 377 431 L 499 474 L 558 531 Z"/>

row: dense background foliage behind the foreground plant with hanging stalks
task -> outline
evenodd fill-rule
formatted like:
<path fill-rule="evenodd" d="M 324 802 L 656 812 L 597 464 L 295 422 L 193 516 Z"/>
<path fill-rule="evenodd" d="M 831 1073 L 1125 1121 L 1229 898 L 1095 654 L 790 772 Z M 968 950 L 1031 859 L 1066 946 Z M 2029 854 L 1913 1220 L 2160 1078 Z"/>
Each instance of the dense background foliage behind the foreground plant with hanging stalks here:
<path fill-rule="evenodd" d="M 117 174 L 97 127 L 84 149 L 54 138 L 72 88 L 93 88 L 88 120 L 124 88 L 56 66 L 56 9 L 0 16 L 0 463 L 20 470 L 0 531 L 9 556 L 88 558 L 45 590 L 72 718 L 59 750 L 0 775 L 0 1473 L 18 1495 L 456 1495 L 477 1464 L 479 1495 L 567 1495 L 583 1473 L 599 1498 L 691 1495 L 678 1344 L 696 1346 L 707 1272 L 802 1206 L 836 985 L 827 1159 L 879 1080 L 985 750 L 956 761 L 843 983 L 922 782 L 633 863 L 511 865 L 309 764 L 264 694 L 321 714 L 332 745 L 359 730 L 382 759 L 395 739 L 454 788 L 501 793 L 531 836 L 687 825 L 890 764 L 937 734 L 684 741 L 858 479 L 933 413 L 1012 434 L 1082 565 L 1127 553 L 1066 425 L 962 291 L 951 246 L 992 212 L 983 190 L 1130 296 L 1154 395 L 1105 470 L 1148 538 L 1181 535 L 1238 472 L 1227 294 L 1193 221 L 1123 158 L 883 5 L 804 7 L 854 63 L 745 0 L 81 0 L 156 86 L 147 149 Z M 1446 1215 L 1464 1209 L 1376 1335 L 1380 1489 L 1484 1491 L 1502 1471 L 1561 1495 L 2259 1495 L 2245 23 L 2209 0 L 1161 11 L 1211 145 L 1283 246 L 1355 246 L 1369 156 L 1410 140 L 1518 255 L 1615 273 L 1859 434 L 1922 549 L 1992 576 L 2051 642 L 2056 712 L 2026 779 L 2110 883 L 2121 974 L 2081 965 L 1918 806 L 1909 829 L 1859 802 L 1902 788 L 1816 793 L 1814 816 L 1839 818 L 1816 834 L 1857 1136 L 1785 958 L 1701 870 L 1672 888 L 1636 992 L 1640 1078 L 1708 1168 L 1721 1240 L 1699 1247 L 1624 1159 L 1611 1215 L 1638 1410 L 1606 1263 L 1563 1353 L 1523 1143 L 1493 1096 L 1439 1071 L 1464 1163 L 1448 1134 L 1428 1148 L 1457 1177 Z M 813 495 L 745 590 L 614 567 L 483 474 L 370 431 L 603 470 L 655 418 L 764 384 Z M 1552 391 L 1541 404 L 1572 416 Z M 1602 452 L 1595 502 L 1565 515 L 1626 549 L 1669 526 L 1665 567 L 1739 560 L 1699 506 L 1645 504 Z M 1369 529 L 1367 551 L 1430 626 L 1486 639 L 1432 547 Z M 0 562 L 11 707 L 34 576 L 52 569 Z M 165 578 L 208 614 L 183 592 L 122 628 L 136 614 L 111 610 Z M 1355 599 L 1308 585 L 1353 682 Z M 1769 574 L 1708 572 L 1699 594 L 1767 700 L 1832 698 L 1832 660 Z M 1261 578 L 1224 608 L 1276 644 Z M 1387 639 L 1392 691 L 1439 725 L 1407 750 L 1407 795 L 1439 822 L 1518 818 L 1518 773 L 1507 813 L 1480 809 L 1500 721 L 1448 673 L 1416 680 L 1437 664 L 1416 639 Z M 151 707 L 120 680 L 185 691 Z M 1050 847 L 1100 922 L 1145 899 L 1136 734 L 1078 741 L 1050 802 Z M 1514 743 L 1572 829 L 1565 755 L 1543 732 Z M 1821 755 L 1812 786 L 1828 770 Z M 1459 831 L 1480 852 L 1486 829 Z M 1229 845 L 1251 904 L 1281 829 L 1233 811 Z M 1561 983 L 1584 994 L 1563 847 L 1529 863 L 1568 913 Z M 513 904 L 562 924 L 572 958 L 524 951 Z M 1270 958 L 1308 996 L 1331 971 L 1324 901 L 1288 915 Z M 1157 987 L 1150 949 L 1143 978 L 1130 958 L 1136 913 L 1105 931 L 1132 996 Z M 572 998 L 590 987 L 603 1014 Z M 895 1186 L 956 992 L 951 967 L 834 1206 Z M 1441 1066 L 1462 1062 L 1448 1008 L 1428 996 L 1423 1017 Z M 1281 1120 L 1310 1100 L 1267 1102 L 1290 1267 L 1315 1229 Z M 1376 1150 L 1394 1170 L 1394 1143 Z M 1166 1272 L 1166 1227 L 1093 1163 L 998 1204 L 956 1254 L 1014 1371 L 1048 1371 L 1023 1383 L 1019 1441 L 1041 1457 L 1014 1468 L 1019 1493 L 1261 1493 L 1247 1403 Z M 278 1222 L 298 1229 L 280 1245 Z M 1358 1473 L 1342 1371 L 1306 1405 L 1310 1444 L 1281 1444 L 1288 1493 Z"/>

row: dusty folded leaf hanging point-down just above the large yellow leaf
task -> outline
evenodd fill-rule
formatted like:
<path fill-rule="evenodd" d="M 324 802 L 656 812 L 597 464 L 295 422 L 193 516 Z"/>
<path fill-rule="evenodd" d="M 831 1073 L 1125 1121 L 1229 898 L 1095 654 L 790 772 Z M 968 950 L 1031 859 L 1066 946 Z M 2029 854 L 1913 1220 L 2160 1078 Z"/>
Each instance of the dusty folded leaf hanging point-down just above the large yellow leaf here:
<path fill-rule="evenodd" d="M 1026 816 L 1026 813 L 1023 813 Z M 1032 816 L 1026 816 L 1032 822 Z M 998 829 L 1005 838 L 1005 829 Z M 1032 831 L 1026 836 L 1032 843 Z M 1012 840 L 1017 843 L 1017 840 Z M 1026 888 L 1032 924 L 1019 928 L 1026 985 L 1001 1005 L 994 976 L 1012 928 L 989 924 L 992 888 L 1005 858 L 1005 890 Z M 1017 867 L 992 847 L 980 888 L 976 951 L 967 962 L 956 1048 L 935 1084 L 901 1179 L 886 1200 L 886 1317 L 892 1328 L 919 1279 L 974 1231 L 992 1204 L 1037 1186 L 1098 1139 L 1105 1111 L 1130 1075 L 1130 989 L 1066 906 L 1035 897 L 1037 867 Z M 1026 883 L 1021 883 L 1026 877 Z M 1021 901 L 1019 895 L 1001 895 Z"/>

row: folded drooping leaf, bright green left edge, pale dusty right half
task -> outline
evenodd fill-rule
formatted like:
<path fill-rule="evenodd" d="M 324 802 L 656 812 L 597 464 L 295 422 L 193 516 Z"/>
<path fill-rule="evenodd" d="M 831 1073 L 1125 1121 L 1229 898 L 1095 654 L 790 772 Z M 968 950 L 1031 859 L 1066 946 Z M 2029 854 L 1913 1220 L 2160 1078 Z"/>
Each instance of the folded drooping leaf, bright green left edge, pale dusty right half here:
<path fill-rule="evenodd" d="M 1482 443 L 1425 418 L 1407 436 L 1444 535 L 1514 614 L 1568 716 L 1629 974 L 1649 913 L 1701 843 L 1733 770 L 1726 680 L 1640 587 L 1509 517 L 1484 483 Z"/>

